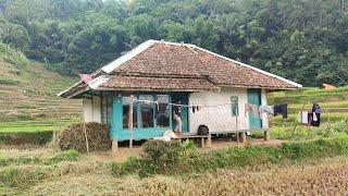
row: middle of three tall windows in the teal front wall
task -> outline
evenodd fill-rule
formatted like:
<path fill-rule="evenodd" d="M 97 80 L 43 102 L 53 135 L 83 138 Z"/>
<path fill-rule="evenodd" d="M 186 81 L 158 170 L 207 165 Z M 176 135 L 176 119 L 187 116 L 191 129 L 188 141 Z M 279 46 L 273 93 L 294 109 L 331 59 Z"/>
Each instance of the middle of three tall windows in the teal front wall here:
<path fill-rule="evenodd" d="M 154 117 L 154 103 L 152 95 L 140 95 L 139 100 L 146 100 L 140 102 L 140 119 L 141 127 L 153 127 L 153 117 Z"/>

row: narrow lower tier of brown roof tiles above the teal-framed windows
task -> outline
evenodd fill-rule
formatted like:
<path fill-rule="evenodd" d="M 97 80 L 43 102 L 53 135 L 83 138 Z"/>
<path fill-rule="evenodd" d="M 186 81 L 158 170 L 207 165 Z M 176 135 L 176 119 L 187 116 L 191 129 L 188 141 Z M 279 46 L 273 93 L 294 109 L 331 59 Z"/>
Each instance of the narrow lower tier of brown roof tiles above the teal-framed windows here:
<path fill-rule="evenodd" d="M 147 77 L 114 75 L 100 89 L 144 90 L 144 91 L 204 91 L 219 90 L 207 78 Z"/>

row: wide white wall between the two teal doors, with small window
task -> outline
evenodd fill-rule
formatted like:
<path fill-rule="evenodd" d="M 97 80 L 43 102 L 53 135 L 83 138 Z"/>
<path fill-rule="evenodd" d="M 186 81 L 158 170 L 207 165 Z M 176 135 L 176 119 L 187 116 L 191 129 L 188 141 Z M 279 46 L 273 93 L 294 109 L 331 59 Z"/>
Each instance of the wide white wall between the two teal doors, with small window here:
<path fill-rule="evenodd" d="M 248 102 L 247 88 L 222 88 L 221 91 L 192 93 L 189 97 L 190 105 L 223 105 L 229 103 L 231 97 L 238 97 L 239 115 L 232 117 L 231 105 L 219 107 L 203 107 L 195 113 L 189 112 L 189 130 L 197 133 L 200 124 L 206 124 L 211 133 L 236 130 L 248 130 L 249 119 L 245 115 L 245 105 Z"/>

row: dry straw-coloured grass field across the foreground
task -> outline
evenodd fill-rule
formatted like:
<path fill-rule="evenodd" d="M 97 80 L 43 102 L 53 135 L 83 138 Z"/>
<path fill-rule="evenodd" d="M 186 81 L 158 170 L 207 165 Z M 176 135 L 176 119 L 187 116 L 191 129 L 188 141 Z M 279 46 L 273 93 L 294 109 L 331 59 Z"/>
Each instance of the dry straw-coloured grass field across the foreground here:
<path fill-rule="evenodd" d="M 47 157 L 50 149 L 2 150 L 12 156 Z M 63 161 L 48 179 L 25 187 L 0 187 L 7 195 L 346 195 L 348 158 L 336 157 L 298 163 L 244 167 L 189 175 L 110 174 L 109 155 L 83 155 Z M 18 166 L 17 166 L 18 167 Z M 38 170 L 35 166 L 21 166 Z M 44 168 L 41 168 L 44 170 Z"/>

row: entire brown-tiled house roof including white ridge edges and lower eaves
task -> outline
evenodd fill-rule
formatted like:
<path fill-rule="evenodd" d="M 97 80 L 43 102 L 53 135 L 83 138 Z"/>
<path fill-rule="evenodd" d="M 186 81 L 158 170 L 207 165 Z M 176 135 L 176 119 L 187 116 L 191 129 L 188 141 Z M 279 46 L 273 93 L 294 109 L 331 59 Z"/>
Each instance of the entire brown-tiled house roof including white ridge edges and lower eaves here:
<path fill-rule="evenodd" d="M 301 85 L 195 45 L 148 40 L 95 72 L 59 96 L 74 97 L 90 89 L 201 91 L 222 86 L 296 89 Z M 98 77 L 97 77 L 98 76 Z"/>

